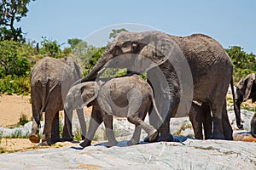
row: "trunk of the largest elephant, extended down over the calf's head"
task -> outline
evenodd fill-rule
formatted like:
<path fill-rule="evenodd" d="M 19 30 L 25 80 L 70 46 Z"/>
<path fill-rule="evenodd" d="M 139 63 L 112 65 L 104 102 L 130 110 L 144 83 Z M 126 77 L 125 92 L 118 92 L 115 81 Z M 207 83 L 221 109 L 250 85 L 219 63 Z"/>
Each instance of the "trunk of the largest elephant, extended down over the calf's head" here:
<path fill-rule="evenodd" d="M 96 80 L 99 71 L 102 70 L 103 66 L 113 58 L 113 54 L 103 54 L 102 57 L 96 62 L 96 65 L 92 68 L 90 73 L 84 77 L 81 82 L 88 82 Z"/>

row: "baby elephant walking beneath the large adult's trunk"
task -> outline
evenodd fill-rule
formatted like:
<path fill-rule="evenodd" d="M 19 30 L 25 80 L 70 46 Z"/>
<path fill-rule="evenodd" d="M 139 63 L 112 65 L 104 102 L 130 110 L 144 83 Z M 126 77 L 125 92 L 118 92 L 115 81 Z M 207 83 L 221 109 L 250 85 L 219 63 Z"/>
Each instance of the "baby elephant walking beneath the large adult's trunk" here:
<path fill-rule="evenodd" d="M 133 136 L 127 143 L 132 145 L 139 143 L 142 128 L 148 133 L 149 141 L 153 141 L 158 135 L 153 126 L 143 122 L 151 104 L 160 117 L 161 124 L 162 117 L 156 108 L 152 88 L 143 78 L 132 75 L 73 86 L 67 94 L 65 110 L 67 116 L 71 116 L 72 111 L 81 105 L 93 105 L 89 130 L 84 142 L 80 144 L 82 147 L 90 145 L 102 122 L 106 127 L 107 146 L 118 144 L 113 135 L 113 116 L 127 117 L 129 122 L 136 125 Z"/>

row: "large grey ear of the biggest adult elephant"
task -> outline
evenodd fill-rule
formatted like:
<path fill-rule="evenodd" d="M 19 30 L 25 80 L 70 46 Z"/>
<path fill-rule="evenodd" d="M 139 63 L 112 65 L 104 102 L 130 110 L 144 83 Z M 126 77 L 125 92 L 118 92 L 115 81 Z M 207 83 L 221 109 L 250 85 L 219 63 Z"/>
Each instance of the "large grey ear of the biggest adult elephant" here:
<path fill-rule="evenodd" d="M 139 56 L 145 59 L 140 59 L 144 63 L 141 64 L 145 71 L 152 69 L 157 65 L 161 65 L 170 59 L 173 54 L 177 54 L 176 42 L 172 37 L 160 31 L 146 31 L 137 37 L 138 42 L 132 42 L 132 49 L 136 51 L 141 48 Z"/>

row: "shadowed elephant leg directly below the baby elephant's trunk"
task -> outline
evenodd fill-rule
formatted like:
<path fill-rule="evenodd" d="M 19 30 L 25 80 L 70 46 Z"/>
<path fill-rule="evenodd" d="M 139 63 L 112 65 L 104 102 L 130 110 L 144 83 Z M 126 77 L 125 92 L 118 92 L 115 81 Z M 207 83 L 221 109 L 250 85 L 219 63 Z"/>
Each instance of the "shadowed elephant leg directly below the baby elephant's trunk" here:
<path fill-rule="evenodd" d="M 63 126 L 63 133 L 62 133 L 62 141 L 73 141 L 73 133 L 72 133 L 72 119 L 73 119 L 73 110 L 64 111 L 64 126 Z M 67 116 L 67 112 L 70 115 Z"/>

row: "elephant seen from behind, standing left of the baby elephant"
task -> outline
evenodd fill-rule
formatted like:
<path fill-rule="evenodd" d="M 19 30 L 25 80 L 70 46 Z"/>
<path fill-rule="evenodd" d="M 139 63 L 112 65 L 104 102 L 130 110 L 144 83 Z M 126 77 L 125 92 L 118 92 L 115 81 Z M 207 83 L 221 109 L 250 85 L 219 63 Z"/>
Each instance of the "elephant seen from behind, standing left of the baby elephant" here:
<path fill-rule="evenodd" d="M 39 143 L 40 119 L 45 112 L 44 133 L 42 145 L 55 144 L 61 141 L 59 132 L 59 111 L 64 110 L 63 99 L 67 91 L 81 78 L 79 65 L 73 58 L 54 59 L 45 57 L 33 66 L 30 73 L 32 98 L 32 133 L 29 137 L 32 143 Z M 77 110 L 81 127 L 85 127 L 84 111 Z M 73 140 L 68 134 L 67 127 L 72 127 L 71 119 L 65 117 L 62 140 Z M 72 132 L 72 129 L 69 129 Z M 83 132 L 85 135 L 85 133 Z"/>

